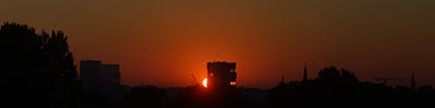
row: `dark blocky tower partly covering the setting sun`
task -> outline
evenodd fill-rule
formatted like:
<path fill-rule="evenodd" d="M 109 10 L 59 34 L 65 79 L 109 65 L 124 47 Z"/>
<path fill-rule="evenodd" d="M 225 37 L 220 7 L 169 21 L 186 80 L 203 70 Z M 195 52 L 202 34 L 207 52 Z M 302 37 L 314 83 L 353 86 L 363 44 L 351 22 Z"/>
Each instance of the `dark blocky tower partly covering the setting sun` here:
<path fill-rule="evenodd" d="M 213 62 L 207 63 L 208 87 L 211 89 L 235 89 L 237 73 L 236 63 Z"/>

